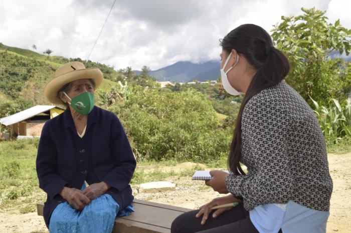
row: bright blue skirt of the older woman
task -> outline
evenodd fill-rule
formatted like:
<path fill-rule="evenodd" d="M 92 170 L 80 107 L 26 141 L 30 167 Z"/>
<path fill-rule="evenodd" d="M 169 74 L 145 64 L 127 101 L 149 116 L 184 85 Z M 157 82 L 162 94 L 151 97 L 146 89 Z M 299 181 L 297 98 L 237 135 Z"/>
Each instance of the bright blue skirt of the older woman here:
<path fill-rule="evenodd" d="M 85 188 L 82 186 L 82 190 Z M 49 231 L 52 233 L 111 232 L 116 216 L 125 216 L 134 212 L 128 205 L 119 211 L 118 203 L 109 194 L 103 194 L 92 200 L 82 211 L 74 209 L 67 201 L 56 206 L 51 214 Z"/>

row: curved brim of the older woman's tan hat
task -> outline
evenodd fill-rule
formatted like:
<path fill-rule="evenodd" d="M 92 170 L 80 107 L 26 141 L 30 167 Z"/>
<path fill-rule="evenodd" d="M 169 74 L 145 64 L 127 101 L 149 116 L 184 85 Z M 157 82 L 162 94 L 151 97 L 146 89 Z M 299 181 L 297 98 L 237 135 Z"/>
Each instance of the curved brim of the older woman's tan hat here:
<path fill-rule="evenodd" d="M 62 100 L 57 96 L 57 92 L 65 84 L 78 80 L 89 78 L 95 82 L 95 89 L 100 86 L 103 80 L 103 74 L 99 68 L 86 68 L 72 70 L 52 79 L 44 88 L 45 97 L 54 104 L 63 104 Z"/>

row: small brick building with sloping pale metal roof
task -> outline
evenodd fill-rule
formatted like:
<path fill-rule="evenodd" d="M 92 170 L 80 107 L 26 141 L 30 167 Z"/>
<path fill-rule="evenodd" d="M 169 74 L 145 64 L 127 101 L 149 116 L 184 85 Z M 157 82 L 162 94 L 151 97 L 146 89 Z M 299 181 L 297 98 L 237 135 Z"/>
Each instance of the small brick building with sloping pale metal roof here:
<path fill-rule="evenodd" d="M 26 110 L 0 119 L 0 123 L 10 125 L 11 138 L 33 138 L 42 133 L 44 123 L 65 109 L 54 105 L 36 105 Z"/>

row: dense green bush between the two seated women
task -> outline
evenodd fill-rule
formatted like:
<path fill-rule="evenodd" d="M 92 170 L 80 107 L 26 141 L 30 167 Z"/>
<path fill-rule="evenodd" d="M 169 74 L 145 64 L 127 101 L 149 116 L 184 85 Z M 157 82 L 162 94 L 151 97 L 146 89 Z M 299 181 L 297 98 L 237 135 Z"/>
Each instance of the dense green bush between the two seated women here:
<path fill-rule="evenodd" d="M 208 161 L 228 151 L 231 128 L 222 127 L 210 101 L 197 91 L 135 87 L 110 109 L 121 119 L 140 160 Z"/>

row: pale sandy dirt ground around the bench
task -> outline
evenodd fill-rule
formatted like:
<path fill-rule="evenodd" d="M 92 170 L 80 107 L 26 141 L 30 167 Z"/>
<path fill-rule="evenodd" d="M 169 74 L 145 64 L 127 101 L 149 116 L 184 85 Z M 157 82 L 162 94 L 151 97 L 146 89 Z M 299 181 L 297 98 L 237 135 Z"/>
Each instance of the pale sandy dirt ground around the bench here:
<path fill-rule="evenodd" d="M 351 232 L 351 153 L 329 154 L 328 160 L 334 188 L 327 232 L 348 233 Z M 184 164 L 186 167 L 191 165 L 191 163 Z M 181 167 L 178 165 L 174 168 L 181 169 Z M 203 181 L 192 181 L 189 177 L 170 178 L 168 181 L 177 184 L 175 191 L 137 193 L 134 188 L 135 198 L 195 209 L 220 196 L 206 187 Z M 36 212 L 21 214 L 18 209 L 11 208 L 0 212 L 0 232 L 42 233 L 48 230 L 42 216 L 37 216 Z"/>

